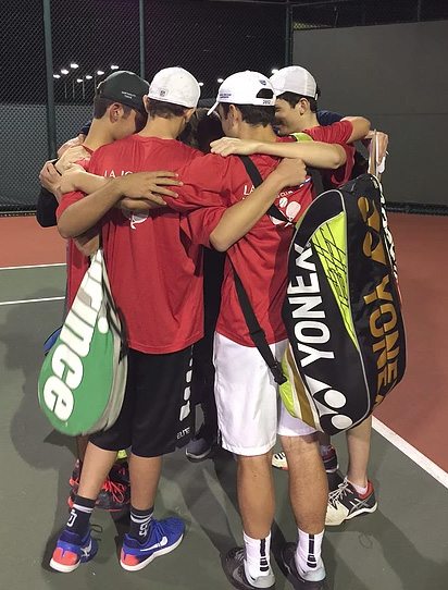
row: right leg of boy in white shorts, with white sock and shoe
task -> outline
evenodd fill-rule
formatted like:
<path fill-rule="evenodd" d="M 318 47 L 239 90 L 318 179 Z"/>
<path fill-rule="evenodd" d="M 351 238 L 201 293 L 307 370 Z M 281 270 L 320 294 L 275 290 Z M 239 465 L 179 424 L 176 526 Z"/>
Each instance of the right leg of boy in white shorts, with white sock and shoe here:
<path fill-rule="evenodd" d="M 294 580 L 324 583 L 321 546 L 328 483 L 318 433 L 290 416 L 283 404 L 278 433 L 289 466 L 289 499 L 298 529 L 297 543 L 287 543 L 283 560 Z"/>

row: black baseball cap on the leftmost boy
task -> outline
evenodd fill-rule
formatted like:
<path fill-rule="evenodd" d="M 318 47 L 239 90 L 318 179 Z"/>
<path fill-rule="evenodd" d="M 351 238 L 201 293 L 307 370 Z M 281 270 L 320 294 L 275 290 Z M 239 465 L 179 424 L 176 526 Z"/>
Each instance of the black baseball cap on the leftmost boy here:
<path fill-rule="evenodd" d="M 146 114 L 144 96 L 148 94 L 149 84 L 134 72 L 120 70 L 114 72 L 97 86 L 95 96 L 126 105 Z"/>

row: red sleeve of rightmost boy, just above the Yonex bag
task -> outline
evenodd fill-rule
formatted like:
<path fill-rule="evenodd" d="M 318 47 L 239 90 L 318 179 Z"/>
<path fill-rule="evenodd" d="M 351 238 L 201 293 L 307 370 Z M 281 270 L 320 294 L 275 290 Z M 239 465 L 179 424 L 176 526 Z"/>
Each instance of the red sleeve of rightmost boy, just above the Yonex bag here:
<path fill-rule="evenodd" d="M 338 121 L 332 125 L 311 127 L 304 130 L 303 133 L 314 139 L 314 142 L 323 142 L 325 144 L 339 144 L 346 151 L 346 163 L 337 170 L 324 170 L 324 183 L 326 186 L 337 188 L 341 184 L 348 182 L 351 176 L 351 171 L 354 165 L 354 147 L 348 145 L 347 142 L 353 132 L 353 125 L 350 121 Z"/>

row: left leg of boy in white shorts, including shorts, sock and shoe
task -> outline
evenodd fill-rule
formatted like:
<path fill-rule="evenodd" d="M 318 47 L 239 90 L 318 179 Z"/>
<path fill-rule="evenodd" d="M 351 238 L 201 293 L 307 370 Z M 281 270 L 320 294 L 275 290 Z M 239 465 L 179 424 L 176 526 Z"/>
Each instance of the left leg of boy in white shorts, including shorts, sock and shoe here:
<path fill-rule="evenodd" d="M 274 354 L 278 346 L 273 345 Z M 274 485 L 271 451 L 276 440 L 277 386 L 253 347 L 215 334 L 215 395 L 222 445 L 238 457 L 238 503 L 244 548 L 225 558 L 225 573 L 237 588 L 271 588 L 271 526 Z"/>

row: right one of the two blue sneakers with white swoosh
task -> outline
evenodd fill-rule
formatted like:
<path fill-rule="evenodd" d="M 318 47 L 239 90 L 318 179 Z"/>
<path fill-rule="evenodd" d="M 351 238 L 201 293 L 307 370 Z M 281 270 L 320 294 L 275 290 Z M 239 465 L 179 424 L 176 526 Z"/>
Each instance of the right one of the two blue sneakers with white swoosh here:
<path fill-rule="evenodd" d="M 139 543 L 134 537 L 125 534 L 120 564 L 128 571 L 137 571 L 150 564 L 155 557 L 166 555 L 181 544 L 185 525 L 181 518 L 151 520 L 147 541 Z"/>

